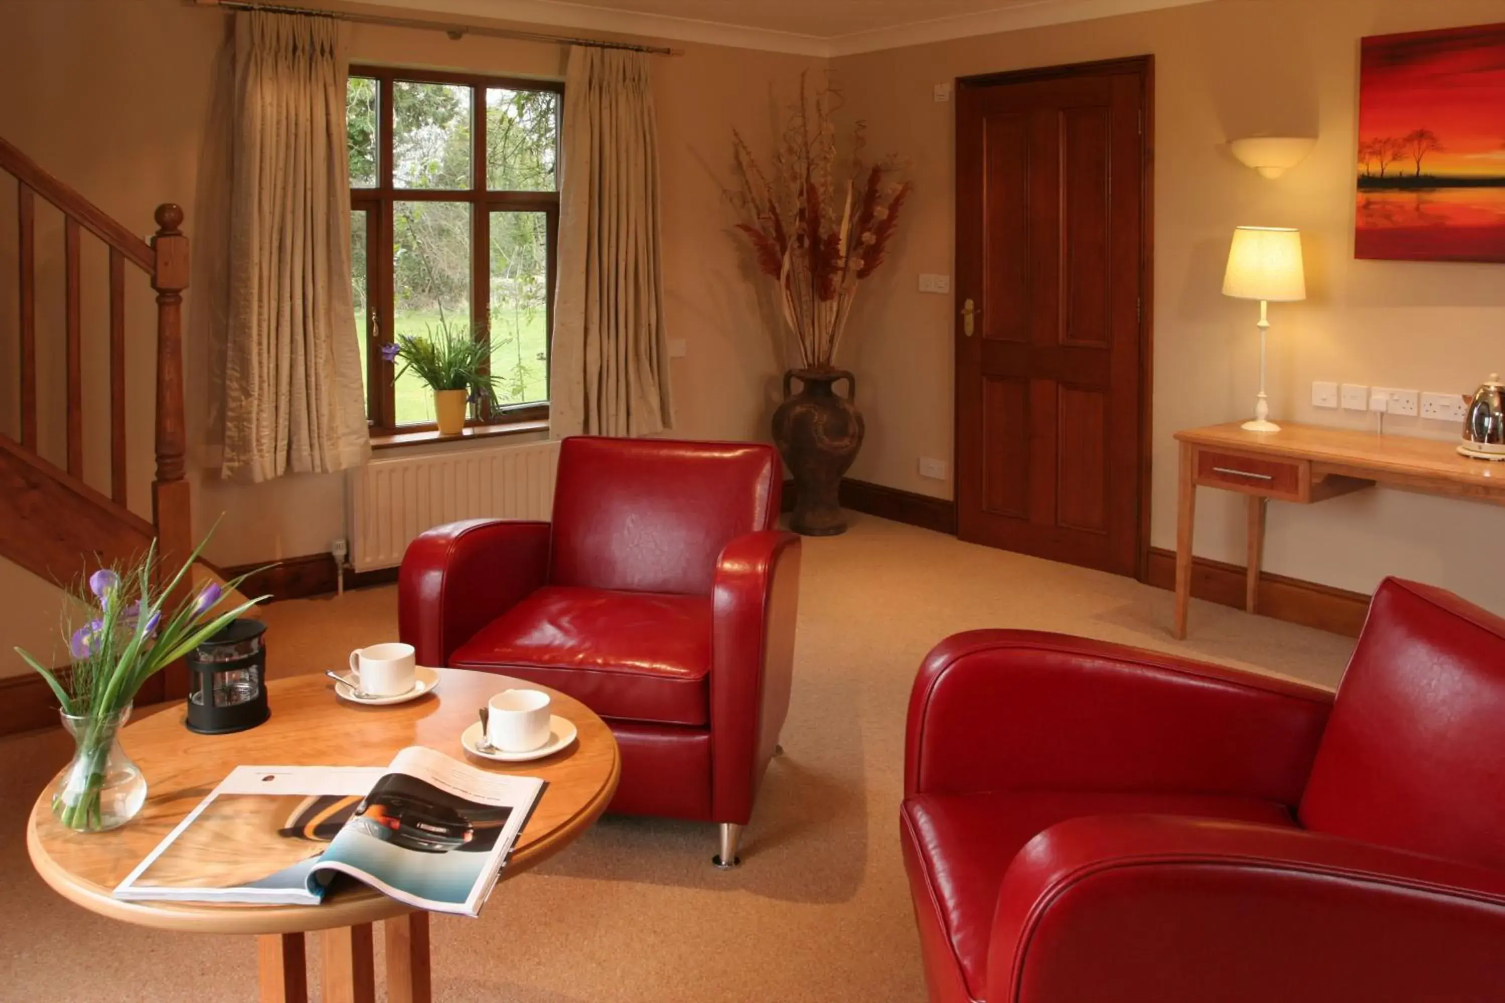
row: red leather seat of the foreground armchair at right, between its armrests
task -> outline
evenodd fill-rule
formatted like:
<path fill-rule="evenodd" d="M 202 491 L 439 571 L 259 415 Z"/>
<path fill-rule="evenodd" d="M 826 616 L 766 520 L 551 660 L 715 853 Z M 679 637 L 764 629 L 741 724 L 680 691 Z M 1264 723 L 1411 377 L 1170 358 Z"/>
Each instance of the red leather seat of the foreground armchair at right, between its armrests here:
<path fill-rule="evenodd" d="M 1126 814 L 1294 826 L 1284 805 L 1195 794 L 912 794 L 900 811 L 911 893 L 918 910 L 929 904 L 933 913 L 920 917 L 921 926 L 938 925 L 950 943 L 950 958 L 930 956 L 927 965 L 954 967 L 974 1000 L 983 1000 L 987 988 L 987 947 L 1004 872 L 1023 845 L 1050 826 Z"/>

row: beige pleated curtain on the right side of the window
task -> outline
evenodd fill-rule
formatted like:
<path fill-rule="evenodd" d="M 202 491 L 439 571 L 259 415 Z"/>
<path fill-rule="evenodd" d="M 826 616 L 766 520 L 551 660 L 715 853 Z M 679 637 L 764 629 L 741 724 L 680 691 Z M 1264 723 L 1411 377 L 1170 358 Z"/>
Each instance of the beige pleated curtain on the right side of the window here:
<path fill-rule="evenodd" d="M 649 57 L 570 48 L 564 77 L 552 435 L 673 424 Z"/>

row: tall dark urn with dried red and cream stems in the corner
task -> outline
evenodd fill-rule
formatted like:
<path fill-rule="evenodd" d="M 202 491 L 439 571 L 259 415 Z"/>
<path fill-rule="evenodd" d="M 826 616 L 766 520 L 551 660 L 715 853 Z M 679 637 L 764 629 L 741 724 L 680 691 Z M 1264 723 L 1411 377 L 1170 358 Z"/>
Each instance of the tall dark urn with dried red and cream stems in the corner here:
<path fill-rule="evenodd" d="M 852 316 L 858 283 L 879 265 L 909 197 L 901 165 L 889 158 L 862 162 L 861 122 L 847 155 L 837 150 L 832 111 L 840 95 L 814 93 L 799 78 L 799 104 L 765 171 L 733 131 L 739 186 L 728 192 L 742 214 L 737 229 L 757 268 L 777 283 L 784 323 L 795 335 L 799 368 L 784 373 L 784 403 L 774 412 L 774 442 L 795 478 L 790 528 L 805 535 L 846 531 L 837 493 L 862 445 L 856 380 L 835 367 L 837 347 Z M 792 382 L 799 380 L 799 392 Z M 847 395 L 834 386 L 846 380 Z"/>

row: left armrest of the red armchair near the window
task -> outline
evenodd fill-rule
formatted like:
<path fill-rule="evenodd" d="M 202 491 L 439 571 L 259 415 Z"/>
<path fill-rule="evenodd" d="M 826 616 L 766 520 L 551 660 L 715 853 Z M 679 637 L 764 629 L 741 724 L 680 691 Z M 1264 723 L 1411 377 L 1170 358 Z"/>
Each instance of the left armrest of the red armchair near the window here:
<path fill-rule="evenodd" d="M 549 523 L 468 519 L 408 544 L 397 574 L 397 636 L 418 665 L 445 666 L 477 630 L 543 585 Z"/>

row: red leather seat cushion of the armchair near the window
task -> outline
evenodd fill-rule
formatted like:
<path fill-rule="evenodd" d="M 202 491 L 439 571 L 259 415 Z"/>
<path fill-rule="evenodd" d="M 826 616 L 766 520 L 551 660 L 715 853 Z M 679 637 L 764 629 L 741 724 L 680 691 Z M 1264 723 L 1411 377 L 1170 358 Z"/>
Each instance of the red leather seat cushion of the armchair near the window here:
<path fill-rule="evenodd" d="M 710 614 L 706 595 L 543 586 L 450 665 L 549 686 L 607 719 L 706 726 Z"/>

